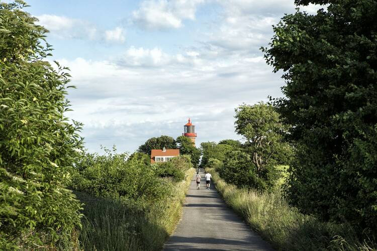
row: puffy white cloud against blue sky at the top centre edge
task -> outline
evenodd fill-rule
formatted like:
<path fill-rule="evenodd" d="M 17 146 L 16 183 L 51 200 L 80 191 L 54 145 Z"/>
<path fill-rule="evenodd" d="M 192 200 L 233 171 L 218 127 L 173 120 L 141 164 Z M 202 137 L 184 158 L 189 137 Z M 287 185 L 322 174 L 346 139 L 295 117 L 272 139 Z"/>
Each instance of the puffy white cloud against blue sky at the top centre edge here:
<path fill-rule="evenodd" d="M 184 19 L 195 20 L 197 6 L 203 0 L 148 0 L 132 13 L 132 19 L 139 27 L 154 29 L 177 29 Z"/>

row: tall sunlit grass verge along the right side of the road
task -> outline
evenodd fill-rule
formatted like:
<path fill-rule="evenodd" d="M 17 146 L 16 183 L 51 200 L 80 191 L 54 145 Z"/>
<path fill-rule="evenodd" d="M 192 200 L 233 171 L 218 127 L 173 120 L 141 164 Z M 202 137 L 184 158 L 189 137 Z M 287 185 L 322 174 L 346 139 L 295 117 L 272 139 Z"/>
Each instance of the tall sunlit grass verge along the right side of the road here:
<path fill-rule="evenodd" d="M 376 250 L 368 239 L 359 241 L 350 225 L 321 222 L 290 207 L 278 190 L 238 189 L 209 171 L 226 203 L 279 250 Z"/>

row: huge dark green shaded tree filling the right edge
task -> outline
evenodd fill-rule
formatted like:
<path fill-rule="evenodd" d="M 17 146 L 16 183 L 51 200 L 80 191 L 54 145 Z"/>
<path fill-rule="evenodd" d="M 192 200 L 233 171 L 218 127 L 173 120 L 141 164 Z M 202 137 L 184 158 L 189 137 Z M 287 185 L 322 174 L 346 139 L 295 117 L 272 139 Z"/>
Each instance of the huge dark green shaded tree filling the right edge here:
<path fill-rule="evenodd" d="M 274 105 L 298 144 L 290 202 L 325 220 L 375 228 L 377 2 L 296 1 L 310 3 L 327 11 L 286 15 L 262 48 L 274 72 L 285 72 L 285 97 Z"/>

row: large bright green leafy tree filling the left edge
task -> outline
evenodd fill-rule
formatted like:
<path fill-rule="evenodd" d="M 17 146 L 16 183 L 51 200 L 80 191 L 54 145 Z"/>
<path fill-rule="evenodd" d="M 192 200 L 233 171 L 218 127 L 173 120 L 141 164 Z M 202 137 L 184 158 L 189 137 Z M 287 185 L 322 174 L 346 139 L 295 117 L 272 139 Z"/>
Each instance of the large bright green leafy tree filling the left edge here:
<path fill-rule="evenodd" d="M 0 249 L 70 249 L 80 203 L 66 185 L 82 149 L 69 122 L 67 68 L 48 62 L 46 30 L 0 3 Z"/>

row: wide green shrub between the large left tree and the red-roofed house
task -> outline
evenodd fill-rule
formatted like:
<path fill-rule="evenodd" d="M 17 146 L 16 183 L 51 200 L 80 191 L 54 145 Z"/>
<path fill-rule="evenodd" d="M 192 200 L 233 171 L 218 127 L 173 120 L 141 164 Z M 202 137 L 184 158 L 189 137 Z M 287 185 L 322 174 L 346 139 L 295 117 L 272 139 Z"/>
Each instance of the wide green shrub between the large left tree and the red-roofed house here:
<path fill-rule="evenodd" d="M 76 164 L 72 188 L 92 196 L 146 203 L 163 198 L 169 184 L 142 159 L 105 149 L 105 155 L 85 153 Z"/>

